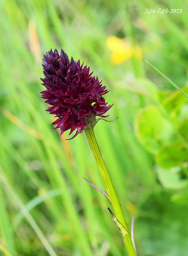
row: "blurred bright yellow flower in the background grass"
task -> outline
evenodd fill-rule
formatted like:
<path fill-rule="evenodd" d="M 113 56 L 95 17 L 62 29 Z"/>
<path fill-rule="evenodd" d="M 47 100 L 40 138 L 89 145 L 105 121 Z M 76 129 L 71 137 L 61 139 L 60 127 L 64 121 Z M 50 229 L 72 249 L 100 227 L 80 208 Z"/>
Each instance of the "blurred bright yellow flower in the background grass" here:
<path fill-rule="evenodd" d="M 107 47 L 112 51 L 111 61 L 114 64 L 120 64 L 134 56 L 138 60 L 142 60 L 142 50 L 136 45 L 131 45 L 131 42 L 124 38 L 121 39 L 116 36 L 108 36 L 106 40 Z"/>

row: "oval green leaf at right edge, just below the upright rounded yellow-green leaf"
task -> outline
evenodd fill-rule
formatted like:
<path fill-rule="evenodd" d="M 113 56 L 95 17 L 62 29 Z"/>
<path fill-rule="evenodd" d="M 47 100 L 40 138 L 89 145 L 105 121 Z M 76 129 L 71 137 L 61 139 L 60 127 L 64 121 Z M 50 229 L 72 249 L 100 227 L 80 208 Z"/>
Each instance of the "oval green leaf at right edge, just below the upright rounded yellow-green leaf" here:
<path fill-rule="evenodd" d="M 183 145 L 171 143 L 161 148 L 155 159 L 160 167 L 169 169 L 171 167 L 180 166 L 187 161 L 187 156 L 187 149 Z"/>

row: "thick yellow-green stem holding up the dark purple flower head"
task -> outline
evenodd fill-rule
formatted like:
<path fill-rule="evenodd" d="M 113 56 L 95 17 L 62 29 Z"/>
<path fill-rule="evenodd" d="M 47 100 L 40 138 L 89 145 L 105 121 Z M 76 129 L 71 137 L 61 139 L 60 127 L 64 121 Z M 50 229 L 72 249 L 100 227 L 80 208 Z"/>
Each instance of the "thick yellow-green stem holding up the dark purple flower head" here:
<path fill-rule="evenodd" d="M 123 242 L 124 242 L 124 244 L 126 246 L 126 249 L 127 249 L 128 256 L 136 256 L 136 252 L 134 250 L 134 245 L 133 245 L 133 242 L 131 240 L 131 235 L 128 231 L 128 226 L 127 226 L 125 216 L 124 216 L 123 211 L 121 209 L 121 205 L 119 203 L 118 197 L 117 197 L 115 189 L 113 187 L 112 180 L 110 179 L 110 176 L 109 176 L 109 173 L 107 171 L 105 162 L 103 160 L 100 149 L 98 147 L 98 143 L 97 143 L 97 140 L 96 140 L 96 137 L 95 137 L 95 134 L 94 134 L 94 131 L 93 131 L 93 127 L 92 127 L 91 124 L 88 124 L 88 129 L 85 130 L 85 134 L 86 134 L 86 137 L 87 137 L 88 142 L 90 144 L 90 148 L 93 152 L 93 156 L 94 156 L 95 161 L 97 163 L 97 166 L 98 166 L 100 175 L 102 177 L 102 180 L 105 184 L 110 202 L 111 202 L 112 207 L 113 207 L 113 211 L 114 211 L 117 219 L 119 220 L 119 222 L 126 228 L 126 230 L 128 232 L 124 236 L 121 234 L 122 238 L 123 238 Z"/>

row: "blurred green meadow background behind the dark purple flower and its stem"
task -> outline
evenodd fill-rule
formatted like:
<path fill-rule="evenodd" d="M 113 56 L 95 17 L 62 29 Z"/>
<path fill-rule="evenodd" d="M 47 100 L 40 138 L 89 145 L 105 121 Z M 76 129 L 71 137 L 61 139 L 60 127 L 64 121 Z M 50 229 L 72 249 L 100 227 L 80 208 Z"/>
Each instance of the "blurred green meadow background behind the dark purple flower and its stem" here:
<path fill-rule="evenodd" d="M 108 120 L 119 118 L 95 133 L 138 255 L 187 255 L 187 100 L 144 62 L 186 85 L 187 12 L 177 0 L 0 1 L 0 255 L 127 255 L 109 203 L 82 178 L 104 189 L 85 134 L 51 129 L 40 99 L 50 48 L 110 89 Z"/>

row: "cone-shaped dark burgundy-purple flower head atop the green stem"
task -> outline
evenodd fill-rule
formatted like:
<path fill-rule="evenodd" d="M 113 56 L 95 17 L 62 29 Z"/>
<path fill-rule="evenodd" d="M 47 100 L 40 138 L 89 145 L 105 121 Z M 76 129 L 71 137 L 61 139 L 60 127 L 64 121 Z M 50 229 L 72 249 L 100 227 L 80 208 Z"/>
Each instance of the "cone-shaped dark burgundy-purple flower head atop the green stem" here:
<path fill-rule="evenodd" d="M 60 55 L 57 49 L 46 52 L 42 66 L 45 78 L 41 80 L 46 90 L 41 92 L 41 98 L 51 105 L 47 111 L 57 117 L 52 124 L 55 129 L 60 128 L 60 135 L 77 129 L 74 138 L 96 116 L 106 117 L 104 114 L 112 105 L 106 106 L 103 95 L 109 91 L 98 77 L 91 76 L 90 67 L 83 67 L 80 60 L 76 62 L 72 57 L 69 61 L 62 49 Z"/>

